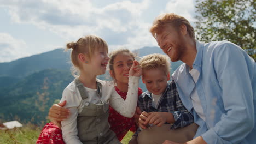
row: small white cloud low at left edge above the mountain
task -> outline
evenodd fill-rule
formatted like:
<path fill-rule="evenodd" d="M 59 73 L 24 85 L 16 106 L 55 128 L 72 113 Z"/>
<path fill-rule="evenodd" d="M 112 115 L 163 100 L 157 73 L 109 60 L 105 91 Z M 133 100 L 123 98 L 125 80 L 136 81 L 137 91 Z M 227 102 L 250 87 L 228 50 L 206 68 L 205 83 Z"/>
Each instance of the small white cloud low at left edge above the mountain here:
<path fill-rule="evenodd" d="M 24 40 L 15 39 L 8 33 L 0 33 L 0 62 L 9 62 L 30 55 L 26 48 Z"/>

